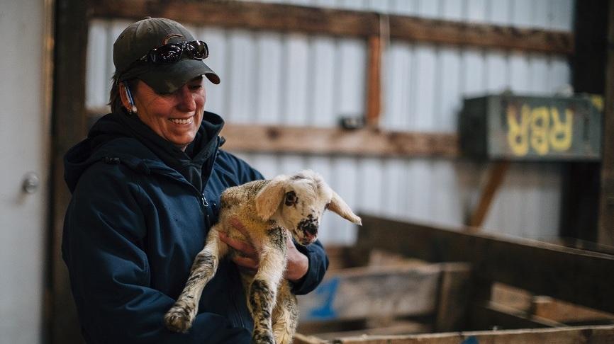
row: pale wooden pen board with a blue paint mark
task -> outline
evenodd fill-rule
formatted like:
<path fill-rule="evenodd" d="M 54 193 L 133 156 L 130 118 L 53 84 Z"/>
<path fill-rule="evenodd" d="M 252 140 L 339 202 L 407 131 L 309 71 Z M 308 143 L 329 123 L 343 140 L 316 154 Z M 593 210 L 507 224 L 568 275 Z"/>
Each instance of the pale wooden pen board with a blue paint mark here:
<path fill-rule="evenodd" d="M 433 314 L 441 270 L 440 264 L 341 270 L 298 297 L 301 322 Z"/>

